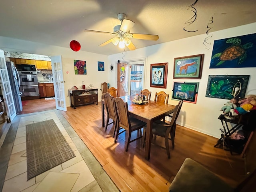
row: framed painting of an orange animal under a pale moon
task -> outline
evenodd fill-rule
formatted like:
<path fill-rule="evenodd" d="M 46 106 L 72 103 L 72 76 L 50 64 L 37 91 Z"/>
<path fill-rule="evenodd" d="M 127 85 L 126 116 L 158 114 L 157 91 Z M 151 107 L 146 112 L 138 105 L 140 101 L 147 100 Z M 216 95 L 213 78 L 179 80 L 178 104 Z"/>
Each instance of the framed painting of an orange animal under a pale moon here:
<path fill-rule="evenodd" d="M 174 79 L 201 79 L 204 54 L 174 58 Z"/>

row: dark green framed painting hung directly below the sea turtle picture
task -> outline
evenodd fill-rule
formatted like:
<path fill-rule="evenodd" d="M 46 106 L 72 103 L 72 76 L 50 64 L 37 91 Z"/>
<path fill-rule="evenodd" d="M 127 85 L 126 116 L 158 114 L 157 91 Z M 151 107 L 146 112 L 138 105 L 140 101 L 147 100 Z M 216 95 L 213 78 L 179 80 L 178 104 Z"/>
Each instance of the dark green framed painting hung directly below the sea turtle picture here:
<path fill-rule="evenodd" d="M 232 99 L 233 88 L 237 82 L 241 83 L 241 90 L 237 98 L 244 98 L 250 75 L 209 75 L 206 97 Z"/>

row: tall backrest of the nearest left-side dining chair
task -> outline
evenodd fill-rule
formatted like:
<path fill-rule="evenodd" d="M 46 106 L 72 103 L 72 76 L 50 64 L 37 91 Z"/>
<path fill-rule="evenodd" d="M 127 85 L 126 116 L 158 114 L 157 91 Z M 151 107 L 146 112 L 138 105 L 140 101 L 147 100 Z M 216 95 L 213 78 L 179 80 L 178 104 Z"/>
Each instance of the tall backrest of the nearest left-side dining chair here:
<path fill-rule="evenodd" d="M 131 123 L 129 118 L 128 104 L 124 102 L 120 97 L 114 99 L 115 102 L 115 112 L 118 121 L 118 126 L 124 128 L 125 130 L 130 129 Z"/>

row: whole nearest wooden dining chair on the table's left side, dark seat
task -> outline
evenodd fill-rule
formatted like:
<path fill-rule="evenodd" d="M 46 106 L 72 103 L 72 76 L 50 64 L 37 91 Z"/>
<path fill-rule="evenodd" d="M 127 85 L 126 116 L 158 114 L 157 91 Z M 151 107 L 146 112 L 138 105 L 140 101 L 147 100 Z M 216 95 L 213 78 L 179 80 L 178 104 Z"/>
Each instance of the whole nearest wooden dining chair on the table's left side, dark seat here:
<path fill-rule="evenodd" d="M 126 140 L 126 146 L 125 146 L 125 151 L 127 151 L 128 146 L 131 142 L 142 138 L 141 129 L 146 125 L 146 123 L 132 116 L 129 116 L 130 113 L 128 111 L 128 104 L 127 102 L 124 102 L 120 97 L 115 98 L 114 102 L 115 102 L 115 112 L 117 117 L 117 130 L 116 130 L 115 143 L 118 139 L 118 135 L 120 135 L 124 131 L 127 131 L 128 139 Z M 119 132 L 120 128 L 124 128 L 124 130 Z M 131 134 L 135 130 L 139 130 L 140 136 L 131 140 Z"/>

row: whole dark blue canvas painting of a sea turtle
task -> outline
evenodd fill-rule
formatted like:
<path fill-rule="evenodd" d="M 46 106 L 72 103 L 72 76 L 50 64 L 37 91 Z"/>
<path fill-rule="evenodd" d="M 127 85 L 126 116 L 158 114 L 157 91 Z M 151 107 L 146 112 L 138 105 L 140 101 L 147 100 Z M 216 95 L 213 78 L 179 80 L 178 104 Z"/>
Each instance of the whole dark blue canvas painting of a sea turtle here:
<path fill-rule="evenodd" d="M 210 68 L 256 67 L 256 33 L 215 40 Z"/>

